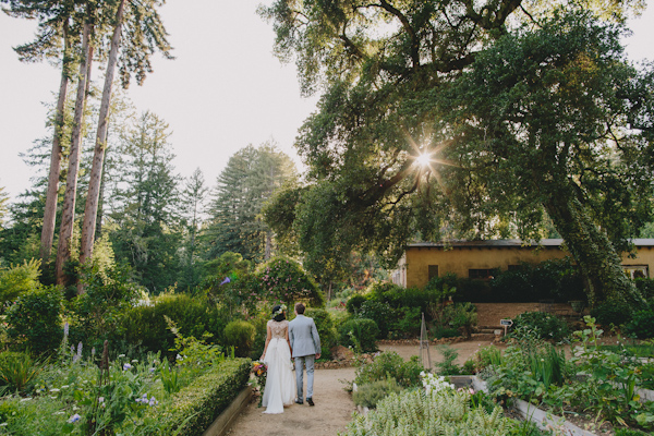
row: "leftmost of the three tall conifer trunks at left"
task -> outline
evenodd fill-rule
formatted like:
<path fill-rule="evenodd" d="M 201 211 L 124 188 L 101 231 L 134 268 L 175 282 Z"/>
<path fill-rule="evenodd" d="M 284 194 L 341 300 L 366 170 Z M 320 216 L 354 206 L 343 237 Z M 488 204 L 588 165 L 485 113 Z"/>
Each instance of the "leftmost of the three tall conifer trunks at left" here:
<path fill-rule="evenodd" d="M 63 61 L 61 66 L 61 84 L 59 85 L 59 97 L 57 100 L 57 112 L 55 113 L 55 137 L 52 138 L 52 154 L 50 155 L 50 173 L 48 175 L 48 191 L 46 193 L 46 208 L 44 210 L 44 227 L 41 229 L 40 253 L 41 270 L 46 270 L 50 262 L 52 241 L 55 240 L 55 227 L 57 221 L 57 201 L 59 197 L 59 175 L 61 173 L 61 136 L 63 135 L 63 119 L 65 113 L 65 99 L 68 97 L 68 85 L 70 82 L 68 63 L 68 26 L 63 28 Z"/>

